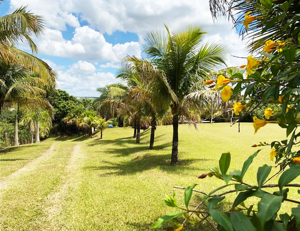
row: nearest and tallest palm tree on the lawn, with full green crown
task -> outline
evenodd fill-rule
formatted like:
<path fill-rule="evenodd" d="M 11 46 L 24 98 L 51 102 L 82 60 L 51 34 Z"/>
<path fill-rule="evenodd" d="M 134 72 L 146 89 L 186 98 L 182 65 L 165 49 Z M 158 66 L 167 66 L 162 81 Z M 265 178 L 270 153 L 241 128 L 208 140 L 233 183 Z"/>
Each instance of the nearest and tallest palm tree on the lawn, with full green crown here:
<path fill-rule="evenodd" d="M 147 32 L 142 47 L 153 64 L 164 73 L 172 90 L 166 88 L 165 91 L 171 102 L 173 115 L 171 164 L 175 165 L 178 163 L 179 116 L 186 114 L 185 119 L 193 117 L 195 105 L 189 103 L 189 95 L 193 93 L 192 87 L 199 80 L 205 79 L 211 69 L 225 64 L 229 50 L 225 45 L 203 44 L 202 38 L 206 32 L 201 25 L 191 24 L 179 32 L 172 33 L 167 26 L 165 27 L 166 36 L 159 30 Z M 198 88 L 202 86 L 198 85 Z M 161 93 L 160 88 L 157 94 Z"/>

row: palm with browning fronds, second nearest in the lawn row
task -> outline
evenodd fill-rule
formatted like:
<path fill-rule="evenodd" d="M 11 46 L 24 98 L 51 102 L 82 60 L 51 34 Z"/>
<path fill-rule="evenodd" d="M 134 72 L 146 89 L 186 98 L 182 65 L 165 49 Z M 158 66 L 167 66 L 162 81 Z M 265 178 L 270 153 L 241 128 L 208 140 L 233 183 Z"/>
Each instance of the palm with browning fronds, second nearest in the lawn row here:
<path fill-rule="evenodd" d="M 149 60 L 128 56 L 124 58 L 124 63 L 116 78 L 131 84 L 132 88 L 127 96 L 129 101 L 139 99 L 142 102 L 144 120 L 150 120 L 151 123 L 149 149 L 153 149 L 156 122 L 158 119 L 168 118 L 166 114 L 170 103 L 168 97 L 161 97 L 160 94 L 153 92 L 153 86 L 156 89 L 169 87 L 163 73 L 156 69 Z"/>

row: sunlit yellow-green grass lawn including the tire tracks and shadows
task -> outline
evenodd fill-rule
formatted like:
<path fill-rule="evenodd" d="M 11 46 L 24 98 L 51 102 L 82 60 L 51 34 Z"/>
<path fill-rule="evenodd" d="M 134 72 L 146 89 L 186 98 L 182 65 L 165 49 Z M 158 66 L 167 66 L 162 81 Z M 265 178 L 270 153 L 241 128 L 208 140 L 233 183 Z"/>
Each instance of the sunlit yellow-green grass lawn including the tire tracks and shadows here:
<path fill-rule="evenodd" d="M 221 153 L 231 152 L 229 171 L 241 169 L 258 149 L 251 145 L 285 139 L 285 130 L 273 124 L 255 135 L 251 123 L 242 123 L 240 133 L 238 125 L 230 127 L 227 123 L 201 124 L 198 130 L 180 125 L 180 161 L 174 167 L 170 166 L 172 133 L 172 126 L 159 126 L 154 150 L 148 149 L 150 129 L 136 144 L 131 138 L 133 129 L 111 128 L 104 131 L 102 140 L 54 137 L 38 146 L 1 151 L 0 177 L 10 182 L 0 187 L 0 230 L 149 230 L 158 217 L 174 211 L 164 204 L 166 194 L 175 190 L 178 203 L 184 207 L 184 191 L 173 186 L 197 183 L 195 189 L 209 192 L 223 185 L 214 177 L 197 179 L 218 165 Z M 257 168 L 272 165 L 269 153 L 270 147 L 263 147 L 245 182 L 255 184 Z M 300 199 L 296 189 L 289 195 Z M 199 196 L 193 195 L 191 205 L 196 205 Z M 233 196 L 226 196 L 220 206 L 228 209 Z M 251 205 L 252 200 L 246 204 Z M 281 210 L 289 211 L 291 206 L 284 202 Z M 203 224 L 201 230 L 211 227 Z"/>

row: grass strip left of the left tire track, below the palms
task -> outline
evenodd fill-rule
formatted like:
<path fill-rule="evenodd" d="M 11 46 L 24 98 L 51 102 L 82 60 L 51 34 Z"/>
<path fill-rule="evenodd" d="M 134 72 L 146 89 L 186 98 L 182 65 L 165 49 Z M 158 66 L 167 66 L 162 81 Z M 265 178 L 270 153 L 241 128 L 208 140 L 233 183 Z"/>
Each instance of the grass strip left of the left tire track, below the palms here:
<path fill-rule="evenodd" d="M 0 149 L 0 180 L 41 156 L 50 148 L 51 144 L 52 140 L 45 140 L 40 144 L 34 143 Z"/>

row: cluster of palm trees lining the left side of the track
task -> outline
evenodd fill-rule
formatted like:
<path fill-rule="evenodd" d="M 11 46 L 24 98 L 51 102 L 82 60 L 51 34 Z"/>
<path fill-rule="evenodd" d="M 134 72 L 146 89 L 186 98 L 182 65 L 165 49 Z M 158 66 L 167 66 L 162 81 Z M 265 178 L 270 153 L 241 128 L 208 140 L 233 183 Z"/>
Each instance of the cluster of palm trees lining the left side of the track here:
<path fill-rule="evenodd" d="M 22 123 L 30 127 L 32 137 L 35 131 L 35 142 L 38 143 L 40 129 L 43 129 L 42 133 L 49 130 L 49 118 L 53 115 L 52 106 L 44 98 L 45 89 L 56 87 L 55 72 L 33 55 L 38 53 L 38 48 L 32 35 L 43 35 L 44 19 L 30 13 L 27 7 L 21 7 L 0 17 L 0 24 L 0 114 L 4 109 L 16 106 L 13 145 L 18 145 L 18 114 L 24 111 Z M 20 41 L 28 42 L 32 54 L 14 46 Z"/>

